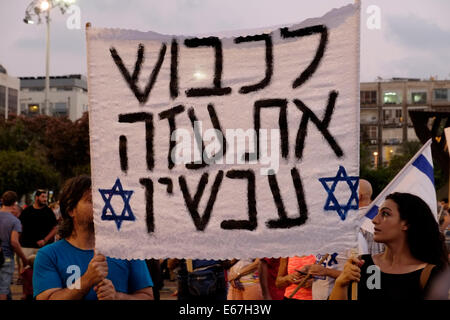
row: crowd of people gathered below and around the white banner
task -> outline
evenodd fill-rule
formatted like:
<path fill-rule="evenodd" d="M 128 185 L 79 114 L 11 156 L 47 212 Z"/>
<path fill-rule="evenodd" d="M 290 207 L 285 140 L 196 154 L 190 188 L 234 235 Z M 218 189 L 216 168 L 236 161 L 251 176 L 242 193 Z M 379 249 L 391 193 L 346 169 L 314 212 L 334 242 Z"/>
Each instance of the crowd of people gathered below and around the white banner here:
<path fill-rule="evenodd" d="M 37 190 L 23 210 L 15 192 L 1 197 L 0 300 L 11 298 L 15 265 L 23 299 L 36 300 L 158 300 L 165 270 L 175 275 L 174 295 L 185 301 L 449 297 L 448 199 L 439 203 L 436 221 L 419 197 L 390 194 L 373 225 L 361 226 L 358 254 L 128 261 L 95 250 L 90 177 L 68 180 L 58 203 L 48 206 L 47 196 Z M 361 179 L 361 220 L 371 197 L 370 183 Z"/>

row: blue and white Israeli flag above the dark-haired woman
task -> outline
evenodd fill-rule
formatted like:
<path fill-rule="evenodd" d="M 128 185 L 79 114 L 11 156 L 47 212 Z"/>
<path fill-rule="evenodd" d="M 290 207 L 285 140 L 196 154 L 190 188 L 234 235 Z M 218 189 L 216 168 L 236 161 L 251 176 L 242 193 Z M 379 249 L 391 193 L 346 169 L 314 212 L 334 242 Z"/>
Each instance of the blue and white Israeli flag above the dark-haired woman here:
<path fill-rule="evenodd" d="M 403 167 L 395 178 L 383 189 L 378 197 L 367 207 L 361 228 L 373 233 L 372 219 L 378 214 L 378 209 L 393 192 L 407 192 L 425 201 L 437 220 L 437 200 L 434 188 L 433 159 L 431 157 L 431 142 L 428 140 L 415 156 Z"/>

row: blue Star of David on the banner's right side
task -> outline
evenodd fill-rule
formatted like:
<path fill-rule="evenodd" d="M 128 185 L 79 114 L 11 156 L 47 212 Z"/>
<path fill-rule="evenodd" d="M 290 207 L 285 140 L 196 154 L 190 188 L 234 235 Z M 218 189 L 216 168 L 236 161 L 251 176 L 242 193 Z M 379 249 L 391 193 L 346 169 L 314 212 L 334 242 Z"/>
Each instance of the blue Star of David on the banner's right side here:
<path fill-rule="evenodd" d="M 347 212 L 349 210 L 357 210 L 358 209 L 358 183 L 359 177 L 349 177 L 345 168 L 343 166 L 339 166 L 339 170 L 335 177 L 327 177 L 320 178 L 319 181 L 322 183 L 325 191 L 328 193 L 328 198 L 325 203 L 324 210 L 327 211 L 336 211 L 339 214 L 339 217 L 342 221 L 347 217 Z M 351 195 L 345 205 L 340 204 L 336 197 L 334 196 L 334 191 L 338 182 L 343 181 L 346 182 L 350 188 Z M 328 183 L 331 183 L 331 186 Z"/>

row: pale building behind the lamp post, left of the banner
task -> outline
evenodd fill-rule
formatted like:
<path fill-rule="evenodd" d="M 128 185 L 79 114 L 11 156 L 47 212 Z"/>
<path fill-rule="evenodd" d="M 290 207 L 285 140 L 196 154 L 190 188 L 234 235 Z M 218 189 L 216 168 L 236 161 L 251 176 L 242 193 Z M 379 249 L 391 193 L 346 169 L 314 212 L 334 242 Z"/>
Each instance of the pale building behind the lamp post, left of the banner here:
<path fill-rule="evenodd" d="M 45 77 L 20 78 L 20 114 L 67 116 L 75 121 L 88 111 L 87 80 L 79 74 L 50 77 L 49 110 L 45 110 Z"/>

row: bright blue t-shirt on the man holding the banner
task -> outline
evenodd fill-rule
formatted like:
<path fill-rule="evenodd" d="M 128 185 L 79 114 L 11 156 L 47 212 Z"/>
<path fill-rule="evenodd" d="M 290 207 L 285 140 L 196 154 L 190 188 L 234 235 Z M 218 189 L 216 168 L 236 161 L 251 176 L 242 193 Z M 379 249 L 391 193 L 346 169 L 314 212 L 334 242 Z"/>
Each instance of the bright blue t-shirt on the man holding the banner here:
<path fill-rule="evenodd" d="M 66 240 L 41 248 L 33 266 L 33 296 L 36 297 L 48 289 L 67 288 L 72 285 L 76 272 L 79 271 L 79 275 L 82 276 L 93 257 L 94 250 L 76 248 Z M 112 281 L 116 291 L 131 294 L 153 286 L 145 261 L 109 257 L 106 257 L 106 260 L 108 263 L 106 278 Z M 97 300 L 93 288 L 84 299 Z"/>

